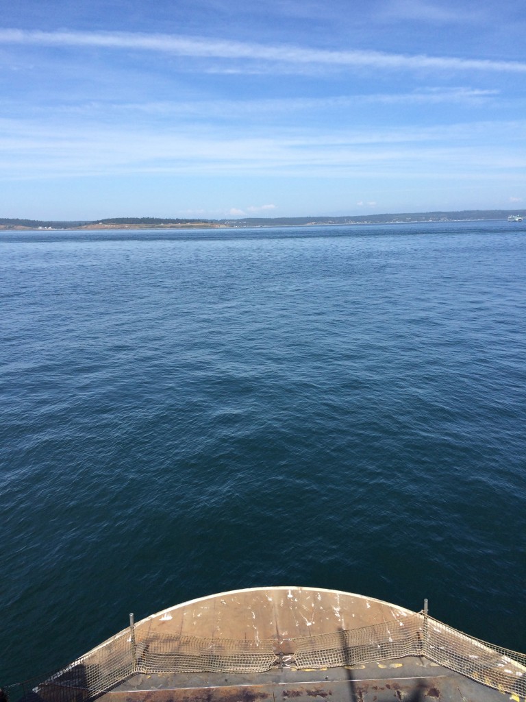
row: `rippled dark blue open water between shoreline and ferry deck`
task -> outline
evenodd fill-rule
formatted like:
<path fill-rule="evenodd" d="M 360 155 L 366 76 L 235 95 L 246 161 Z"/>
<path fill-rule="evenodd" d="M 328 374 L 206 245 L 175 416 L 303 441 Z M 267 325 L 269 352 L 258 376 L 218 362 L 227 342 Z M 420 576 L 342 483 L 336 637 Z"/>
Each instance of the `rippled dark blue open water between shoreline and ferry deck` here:
<path fill-rule="evenodd" d="M 526 650 L 526 223 L 0 236 L 0 682 L 313 585 Z"/>

